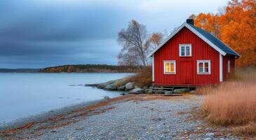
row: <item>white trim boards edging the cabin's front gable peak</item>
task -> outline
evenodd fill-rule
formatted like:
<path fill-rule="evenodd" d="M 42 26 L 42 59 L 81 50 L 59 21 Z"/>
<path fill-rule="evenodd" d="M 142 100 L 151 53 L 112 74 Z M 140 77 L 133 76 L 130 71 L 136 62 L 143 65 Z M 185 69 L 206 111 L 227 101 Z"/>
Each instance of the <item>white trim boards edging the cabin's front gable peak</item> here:
<path fill-rule="evenodd" d="M 177 34 L 181 29 L 183 29 L 184 27 L 187 27 L 190 31 L 192 31 L 194 34 L 196 34 L 199 38 L 201 38 L 203 41 L 205 41 L 206 43 L 208 43 L 211 47 L 213 47 L 215 50 L 217 50 L 217 52 L 220 52 L 220 54 L 222 54 L 223 56 L 227 55 L 226 52 L 224 52 L 223 50 L 221 50 L 220 48 L 218 48 L 215 44 L 213 44 L 211 41 L 208 40 L 208 38 L 206 38 L 205 36 L 201 35 L 198 31 L 196 31 L 196 29 L 194 29 L 193 27 L 191 27 L 189 24 L 187 24 L 187 22 L 184 22 L 176 31 L 173 32 L 173 34 L 170 34 L 170 36 L 168 36 L 168 38 L 166 38 L 165 41 L 163 41 L 163 43 L 161 43 L 158 47 L 156 47 L 151 53 L 149 53 L 149 55 L 147 57 L 151 57 L 152 55 L 154 55 L 154 53 L 159 50 L 159 48 L 161 48 L 167 41 L 170 40 L 170 38 L 173 38 L 173 36 L 175 36 L 175 34 Z"/>

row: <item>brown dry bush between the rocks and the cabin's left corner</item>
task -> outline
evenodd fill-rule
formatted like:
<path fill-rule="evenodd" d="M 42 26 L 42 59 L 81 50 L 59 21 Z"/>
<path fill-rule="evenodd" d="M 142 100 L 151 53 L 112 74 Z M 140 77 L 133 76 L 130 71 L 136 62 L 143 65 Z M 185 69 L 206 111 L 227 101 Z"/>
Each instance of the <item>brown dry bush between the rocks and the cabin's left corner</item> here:
<path fill-rule="evenodd" d="M 151 85 L 152 83 L 152 69 L 151 66 L 146 66 L 135 76 L 130 76 L 127 80 L 133 81 L 135 85 L 144 87 L 145 85 Z"/>

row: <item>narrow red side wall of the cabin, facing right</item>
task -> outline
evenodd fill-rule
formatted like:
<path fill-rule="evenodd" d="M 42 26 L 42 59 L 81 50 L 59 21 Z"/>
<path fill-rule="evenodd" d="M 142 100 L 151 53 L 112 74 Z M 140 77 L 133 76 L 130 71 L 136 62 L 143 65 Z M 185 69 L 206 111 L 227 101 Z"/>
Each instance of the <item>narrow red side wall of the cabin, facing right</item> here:
<path fill-rule="evenodd" d="M 228 73 L 228 68 L 227 68 L 227 63 L 230 60 L 230 73 Z M 229 78 L 229 76 L 234 76 L 235 73 L 235 67 L 236 67 L 236 62 L 235 62 L 235 58 L 231 57 L 231 56 L 224 56 L 223 57 L 223 79 L 226 80 L 227 78 Z"/>

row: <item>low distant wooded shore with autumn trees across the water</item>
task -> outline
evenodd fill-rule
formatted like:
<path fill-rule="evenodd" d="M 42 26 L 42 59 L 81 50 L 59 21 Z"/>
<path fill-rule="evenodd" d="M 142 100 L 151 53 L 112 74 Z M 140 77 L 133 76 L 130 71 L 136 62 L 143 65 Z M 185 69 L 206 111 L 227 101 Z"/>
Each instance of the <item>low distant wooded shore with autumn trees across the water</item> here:
<path fill-rule="evenodd" d="M 40 69 L 39 72 L 45 73 L 136 73 L 142 66 L 116 66 L 107 64 L 78 64 L 53 66 Z"/>

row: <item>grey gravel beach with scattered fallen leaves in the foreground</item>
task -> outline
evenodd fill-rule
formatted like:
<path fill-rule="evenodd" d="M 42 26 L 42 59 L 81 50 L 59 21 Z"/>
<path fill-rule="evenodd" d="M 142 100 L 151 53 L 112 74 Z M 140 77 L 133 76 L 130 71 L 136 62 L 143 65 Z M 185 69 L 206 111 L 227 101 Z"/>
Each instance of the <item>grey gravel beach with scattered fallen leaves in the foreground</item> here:
<path fill-rule="evenodd" d="M 89 113 L 74 111 L 55 119 L 59 121 L 54 121 L 53 127 L 43 122 L 14 133 L 0 133 L 0 139 L 242 139 L 227 128 L 202 121 L 198 116 L 202 98 L 140 95 L 90 109 Z"/>

